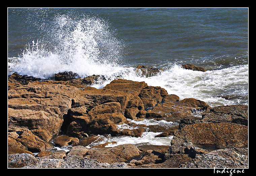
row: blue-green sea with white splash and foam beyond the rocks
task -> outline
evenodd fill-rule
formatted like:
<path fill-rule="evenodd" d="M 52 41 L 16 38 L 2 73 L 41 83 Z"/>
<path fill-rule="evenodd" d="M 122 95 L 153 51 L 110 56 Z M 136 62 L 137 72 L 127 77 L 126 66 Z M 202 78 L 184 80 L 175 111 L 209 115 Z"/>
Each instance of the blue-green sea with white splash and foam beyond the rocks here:
<path fill-rule="evenodd" d="M 8 8 L 8 75 L 104 75 L 105 82 L 92 85 L 97 89 L 121 77 L 212 107 L 248 105 L 248 10 Z M 187 63 L 207 71 L 183 69 Z M 138 65 L 164 71 L 146 77 L 134 71 Z M 152 144 L 168 145 L 171 138 L 161 140 Z"/>

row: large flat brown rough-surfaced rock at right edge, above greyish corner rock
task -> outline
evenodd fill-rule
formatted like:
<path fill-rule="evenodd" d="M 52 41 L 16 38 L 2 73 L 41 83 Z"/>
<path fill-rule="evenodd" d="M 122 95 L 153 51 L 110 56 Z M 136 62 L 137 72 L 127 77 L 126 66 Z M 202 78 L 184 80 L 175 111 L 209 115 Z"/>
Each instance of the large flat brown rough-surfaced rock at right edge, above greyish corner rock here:
<path fill-rule="evenodd" d="M 209 151 L 248 147 L 248 127 L 210 122 L 186 125 L 174 133 L 170 153 L 185 153 L 193 146 Z"/>

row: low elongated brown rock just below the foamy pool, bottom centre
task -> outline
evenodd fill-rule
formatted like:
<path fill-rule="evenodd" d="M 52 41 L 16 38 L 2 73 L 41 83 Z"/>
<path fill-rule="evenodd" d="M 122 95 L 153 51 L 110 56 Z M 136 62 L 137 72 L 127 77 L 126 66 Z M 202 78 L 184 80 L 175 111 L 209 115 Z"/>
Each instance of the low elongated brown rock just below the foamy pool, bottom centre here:
<path fill-rule="evenodd" d="M 140 152 L 133 144 L 118 145 L 113 148 L 91 148 L 86 157 L 95 159 L 101 163 L 127 162 L 133 157 L 139 156 Z"/>

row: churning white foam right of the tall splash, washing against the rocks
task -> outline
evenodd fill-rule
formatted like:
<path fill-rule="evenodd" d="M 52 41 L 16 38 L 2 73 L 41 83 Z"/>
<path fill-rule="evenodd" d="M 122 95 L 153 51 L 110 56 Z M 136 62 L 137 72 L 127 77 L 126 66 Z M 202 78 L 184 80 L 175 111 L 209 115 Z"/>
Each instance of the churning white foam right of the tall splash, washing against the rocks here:
<path fill-rule="evenodd" d="M 93 85 L 101 89 L 115 75 L 133 81 L 145 81 L 150 86 L 160 86 L 168 94 L 175 94 L 180 100 L 195 98 L 205 101 L 210 106 L 245 104 L 248 105 L 248 65 L 238 65 L 206 72 L 192 71 L 172 65 L 159 75 L 145 77 L 134 68 L 123 68 L 114 75 L 107 75 L 109 80 L 103 84 Z"/>

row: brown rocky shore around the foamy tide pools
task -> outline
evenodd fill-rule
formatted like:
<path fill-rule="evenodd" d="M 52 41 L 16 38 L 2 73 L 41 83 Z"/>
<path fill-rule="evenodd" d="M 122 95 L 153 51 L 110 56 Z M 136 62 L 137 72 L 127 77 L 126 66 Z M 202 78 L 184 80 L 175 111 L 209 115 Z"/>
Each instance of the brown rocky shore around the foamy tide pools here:
<path fill-rule="evenodd" d="M 146 76 L 162 71 L 136 69 Z M 90 86 L 103 80 L 101 75 L 79 78 L 72 72 L 52 80 L 9 76 L 8 168 L 248 168 L 248 106 L 210 107 L 125 79 L 103 89 Z M 128 119 L 176 125 L 146 126 Z M 136 128 L 118 128 L 122 124 Z M 87 147 L 100 140 L 98 135 L 141 137 L 146 129 L 161 132 L 158 138 L 173 136 L 170 145 Z M 54 152 L 54 145 L 72 148 Z"/>

